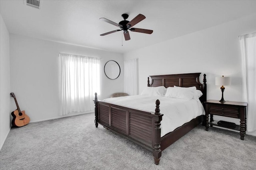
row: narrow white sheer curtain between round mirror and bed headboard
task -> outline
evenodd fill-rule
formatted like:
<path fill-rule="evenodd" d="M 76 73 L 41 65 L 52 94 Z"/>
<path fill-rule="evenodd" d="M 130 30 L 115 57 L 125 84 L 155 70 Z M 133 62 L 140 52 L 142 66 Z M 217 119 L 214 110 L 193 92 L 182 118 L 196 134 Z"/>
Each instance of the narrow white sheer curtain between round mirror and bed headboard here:
<path fill-rule="evenodd" d="M 138 94 L 138 59 L 124 61 L 124 92 Z"/>

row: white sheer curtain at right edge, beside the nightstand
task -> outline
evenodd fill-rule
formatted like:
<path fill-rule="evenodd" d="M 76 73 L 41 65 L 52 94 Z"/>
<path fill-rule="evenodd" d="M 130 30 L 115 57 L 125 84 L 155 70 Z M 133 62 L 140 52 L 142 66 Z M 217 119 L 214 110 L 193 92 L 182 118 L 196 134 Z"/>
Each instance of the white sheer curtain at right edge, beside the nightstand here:
<path fill-rule="evenodd" d="M 248 103 L 247 131 L 256 130 L 256 33 L 239 36 L 244 101 Z"/>

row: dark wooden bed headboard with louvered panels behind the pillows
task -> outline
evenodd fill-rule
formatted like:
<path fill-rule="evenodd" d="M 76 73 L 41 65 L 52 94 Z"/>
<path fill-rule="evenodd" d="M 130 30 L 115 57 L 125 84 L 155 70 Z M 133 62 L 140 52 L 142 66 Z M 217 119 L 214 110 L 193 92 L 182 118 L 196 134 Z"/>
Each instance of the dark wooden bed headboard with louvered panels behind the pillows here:
<path fill-rule="evenodd" d="M 206 74 L 204 74 L 203 84 L 199 81 L 200 72 L 197 73 L 186 73 L 186 74 L 168 74 L 168 75 L 157 75 L 157 76 L 150 76 L 151 84 L 149 84 L 149 77 L 148 77 L 148 87 L 158 87 L 158 86 L 165 86 L 173 87 L 173 86 L 180 86 L 180 87 L 191 87 L 196 86 L 197 90 L 201 90 L 203 95 L 200 97 L 201 102 L 206 101 Z"/>

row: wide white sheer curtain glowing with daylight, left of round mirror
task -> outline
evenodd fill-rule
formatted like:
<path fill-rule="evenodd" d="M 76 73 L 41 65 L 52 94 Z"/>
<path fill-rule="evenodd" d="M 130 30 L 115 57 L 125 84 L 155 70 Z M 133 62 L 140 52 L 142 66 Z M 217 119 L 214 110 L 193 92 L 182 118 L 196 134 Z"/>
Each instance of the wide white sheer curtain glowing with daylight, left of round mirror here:
<path fill-rule="evenodd" d="M 60 53 L 60 114 L 94 109 L 94 93 L 100 93 L 100 59 Z"/>

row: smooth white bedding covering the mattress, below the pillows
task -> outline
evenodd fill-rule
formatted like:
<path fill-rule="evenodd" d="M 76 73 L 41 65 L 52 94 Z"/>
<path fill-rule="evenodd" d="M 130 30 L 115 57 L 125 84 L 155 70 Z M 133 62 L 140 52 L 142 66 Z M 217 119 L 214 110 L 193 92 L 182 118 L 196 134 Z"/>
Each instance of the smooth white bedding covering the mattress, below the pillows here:
<path fill-rule="evenodd" d="M 186 100 L 164 96 L 136 95 L 108 98 L 103 101 L 154 113 L 157 99 L 160 100 L 160 113 L 164 114 L 161 121 L 161 137 L 197 116 L 205 114 L 201 102 L 194 99 Z"/>

